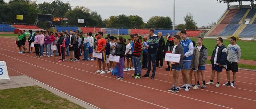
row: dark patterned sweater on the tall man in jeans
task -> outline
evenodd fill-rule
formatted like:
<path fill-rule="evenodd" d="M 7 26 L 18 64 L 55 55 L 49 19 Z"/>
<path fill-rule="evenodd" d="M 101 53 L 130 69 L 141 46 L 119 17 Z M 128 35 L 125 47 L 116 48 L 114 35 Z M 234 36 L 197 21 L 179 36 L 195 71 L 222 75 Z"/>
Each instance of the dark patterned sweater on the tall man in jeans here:
<path fill-rule="evenodd" d="M 156 34 L 154 34 L 153 36 L 149 36 L 148 38 L 148 50 L 147 52 L 149 54 L 156 54 L 157 53 L 157 49 L 158 49 L 158 37 Z"/>

